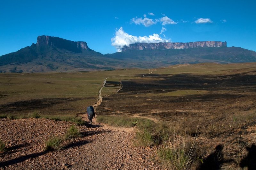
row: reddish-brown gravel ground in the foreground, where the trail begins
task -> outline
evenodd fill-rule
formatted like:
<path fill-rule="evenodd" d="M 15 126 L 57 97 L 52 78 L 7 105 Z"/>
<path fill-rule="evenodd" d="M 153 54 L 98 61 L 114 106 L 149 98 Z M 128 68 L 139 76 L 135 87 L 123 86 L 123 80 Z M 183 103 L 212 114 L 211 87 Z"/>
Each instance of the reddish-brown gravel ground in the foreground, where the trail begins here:
<path fill-rule="evenodd" d="M 64 142 L 60 151 L 44 151 L 51 136 L 64 136 L 71 122 L 48 119 L 0 119 L 0 169 L 162 169 L 156 147 L 134 147 L 136 128 L 93 122 L 77 126 L 82 137 Z"/>

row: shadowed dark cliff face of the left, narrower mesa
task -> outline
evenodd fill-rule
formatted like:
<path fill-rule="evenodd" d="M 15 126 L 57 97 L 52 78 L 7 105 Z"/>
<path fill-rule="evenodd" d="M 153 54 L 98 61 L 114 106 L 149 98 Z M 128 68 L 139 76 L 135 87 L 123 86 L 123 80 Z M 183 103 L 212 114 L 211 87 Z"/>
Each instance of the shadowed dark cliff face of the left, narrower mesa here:
<path fill-rule="evenodd" d="M 70 41 L 59 37 L 51 37 L 42 35 L 37 37 L 37 46 L 55 46 L 61 49 L 66 49 L 75 53 L 80 53 L 81 50 L 91 50 L 84 41 Z"/>

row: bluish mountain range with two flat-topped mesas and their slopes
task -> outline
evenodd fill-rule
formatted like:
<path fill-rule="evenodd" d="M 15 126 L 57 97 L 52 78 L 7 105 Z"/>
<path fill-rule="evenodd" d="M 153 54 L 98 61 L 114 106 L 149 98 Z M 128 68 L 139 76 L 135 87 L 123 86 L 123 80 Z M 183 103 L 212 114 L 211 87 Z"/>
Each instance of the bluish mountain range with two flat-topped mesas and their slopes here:
<path fill-rule="evenodd" d="M 227 47 L 227 42 L 137 43 L 122 52 L 101 54 L 84 41 L 38 36 L 36 44 L 0 57 L 0 73 L 71 72 L 122 68 L 156 68 L 185 63 L 256 62 L 256 52 Z"/>

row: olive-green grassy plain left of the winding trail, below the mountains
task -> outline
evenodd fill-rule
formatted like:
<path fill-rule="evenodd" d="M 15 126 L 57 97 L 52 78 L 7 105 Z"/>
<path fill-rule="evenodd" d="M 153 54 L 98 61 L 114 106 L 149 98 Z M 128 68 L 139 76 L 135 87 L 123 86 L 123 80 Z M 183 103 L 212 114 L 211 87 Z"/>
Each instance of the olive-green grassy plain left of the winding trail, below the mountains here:
<path fill-rule="evenodd" d="M 0 114 L 27 116 L 31 112 L 42 115 L 70 115 L 85 112 L 98 98 L 107 77 L 123 75 L 132 78 L 148 70 L 116 70 L 79 73 L 8 73 L 0 74 Z M 121 77 L 115 80 L 120 81 Z M 117 87 L 119 88 L 119 86 Z M 116 89 L 106 88 L 104 95 Z"/>

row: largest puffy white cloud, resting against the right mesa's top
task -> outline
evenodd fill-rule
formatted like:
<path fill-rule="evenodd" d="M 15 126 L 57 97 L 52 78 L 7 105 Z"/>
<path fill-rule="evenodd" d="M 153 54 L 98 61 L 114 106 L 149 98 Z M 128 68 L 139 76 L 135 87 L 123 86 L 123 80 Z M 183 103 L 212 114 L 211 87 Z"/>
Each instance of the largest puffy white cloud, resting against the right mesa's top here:
<path fill-rule="evenodd" d="M 120 27 L 119 30 L 116 30 L 115 37 L 111 38 L 111 45 L 116 47 L 117 52 L 121 52 L 122 48 L 130 46 L 134 43 L 159 43 L 159 42 L 169 42 L 169 39 L 162 39 L 158 34 L 153 34 L 147 36 L 133 36 L 124 32 L 123 27 Z"/>

